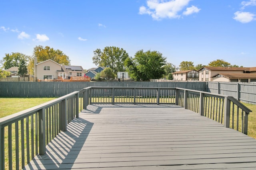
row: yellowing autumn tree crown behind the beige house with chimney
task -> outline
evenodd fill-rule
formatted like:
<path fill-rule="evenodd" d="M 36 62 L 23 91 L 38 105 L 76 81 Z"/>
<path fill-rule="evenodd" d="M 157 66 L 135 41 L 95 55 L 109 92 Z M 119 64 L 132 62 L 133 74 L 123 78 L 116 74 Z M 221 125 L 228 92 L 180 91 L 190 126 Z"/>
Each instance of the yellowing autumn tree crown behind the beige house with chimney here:
<path fill-rule="evenodd" d="M 34 47 L 33 55 L 34 57 L 37 57 L 38 62 L 51 59 L 52 61 L 62 65 L 70 65 L 70 59 L 67 55 L 59 49 L 55 50 L 49 46 L 43 47 L 42 45 L 38 45 Z"/>

